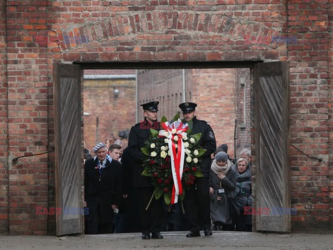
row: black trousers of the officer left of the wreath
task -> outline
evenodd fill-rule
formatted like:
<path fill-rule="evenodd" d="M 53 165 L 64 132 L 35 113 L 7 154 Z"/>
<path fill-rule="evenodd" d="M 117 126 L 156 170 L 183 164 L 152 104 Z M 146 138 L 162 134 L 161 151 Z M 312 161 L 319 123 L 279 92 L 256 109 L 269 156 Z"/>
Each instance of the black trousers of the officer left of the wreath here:
<path fill-rule="evenodd" d="M 163 197 L 156 200 L 155 197 L 151 200 L 151 204 L 146 210 L 151 195 L 154 192 L 151 188 L 138 188 L 139 193 L 139 208 L 141 216 L 141 232 L 142 233 L 158 233 L 161 231 L 162 226 L 162 202 Z"/>

